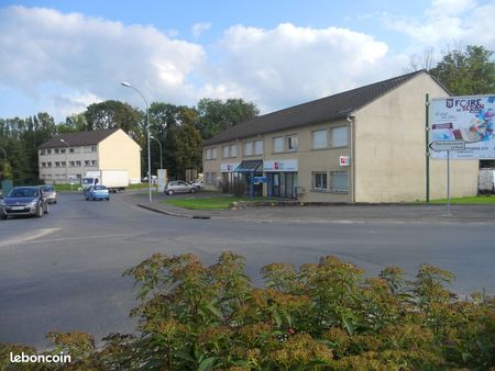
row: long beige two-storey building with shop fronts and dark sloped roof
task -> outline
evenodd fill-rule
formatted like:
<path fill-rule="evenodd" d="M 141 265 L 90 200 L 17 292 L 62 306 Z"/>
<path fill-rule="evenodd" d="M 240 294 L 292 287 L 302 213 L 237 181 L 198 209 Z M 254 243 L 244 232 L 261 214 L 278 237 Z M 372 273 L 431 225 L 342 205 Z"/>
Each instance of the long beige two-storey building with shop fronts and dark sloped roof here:
<path fill-rule="evenodd" d="M 416 71 L 240 123 L 204 143 L 206 189 L 301 202 L 426 199 L 426 94 L 449 97 Z M 429 160 L 430 198 L 446 198 L 446 160 Z M 451 161 L 451 195 L 475 195 L 477 160 Z"/>

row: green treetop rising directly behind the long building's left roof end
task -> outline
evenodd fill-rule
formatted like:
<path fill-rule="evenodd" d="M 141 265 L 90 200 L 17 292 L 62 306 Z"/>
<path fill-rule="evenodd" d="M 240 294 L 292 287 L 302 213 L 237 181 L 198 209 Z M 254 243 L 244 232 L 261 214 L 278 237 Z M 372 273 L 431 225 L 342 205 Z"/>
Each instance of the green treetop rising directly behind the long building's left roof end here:
<path fill-rule="evenodd" d="M 260 114 L 256 105 L 242 99 L 208 99 L 198 102 L 199 121 L 197 128 L 204 139 L 211 138 L 226 128 Z"/>

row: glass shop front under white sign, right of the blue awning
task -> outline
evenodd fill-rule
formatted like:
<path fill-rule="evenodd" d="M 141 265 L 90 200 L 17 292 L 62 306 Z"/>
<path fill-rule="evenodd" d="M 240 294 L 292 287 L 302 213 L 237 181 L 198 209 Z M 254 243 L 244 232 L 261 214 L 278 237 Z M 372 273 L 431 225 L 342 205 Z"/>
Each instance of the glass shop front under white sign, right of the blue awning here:
<path fill-rule="evenodd" d="M 268 178 L 268 198 L 297 199 L 297 159 L 264 161 L 263 171 Z"/>

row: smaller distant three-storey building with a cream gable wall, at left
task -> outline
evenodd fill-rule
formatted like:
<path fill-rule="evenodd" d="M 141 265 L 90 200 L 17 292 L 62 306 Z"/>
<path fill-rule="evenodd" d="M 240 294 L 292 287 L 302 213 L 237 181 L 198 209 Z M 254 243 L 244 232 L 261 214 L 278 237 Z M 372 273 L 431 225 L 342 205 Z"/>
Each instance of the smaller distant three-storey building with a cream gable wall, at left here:
<path fill-rule="evenodd" d="M 131 183 L 141 179 L 141 148 L 120 128 L 57 135 L 37 149 L 45 183 L 80 182 L 90 170 L 127 170 Z"/>

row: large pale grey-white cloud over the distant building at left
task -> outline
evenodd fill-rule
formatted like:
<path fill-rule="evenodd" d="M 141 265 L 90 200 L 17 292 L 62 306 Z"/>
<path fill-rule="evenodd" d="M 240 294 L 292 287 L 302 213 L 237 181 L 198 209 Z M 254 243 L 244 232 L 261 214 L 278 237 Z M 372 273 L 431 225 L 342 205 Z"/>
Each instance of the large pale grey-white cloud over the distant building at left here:
<path fill-rule="evenodd" d="M 188 76 L 206 57 L 200 45 L 152 26 L 24 7 L 0 9 L 0 49 L 8 56 L 0 58 L 0 85 L 33 100 L 57 101 L 52 109 L 61 111 L 75 91 L 89 97 L 86 103 L 100 97 L 141 105 L 140 97 L 120 86 L 122 80 L 139 86 L 151 101 L 194 103 Z"/>

